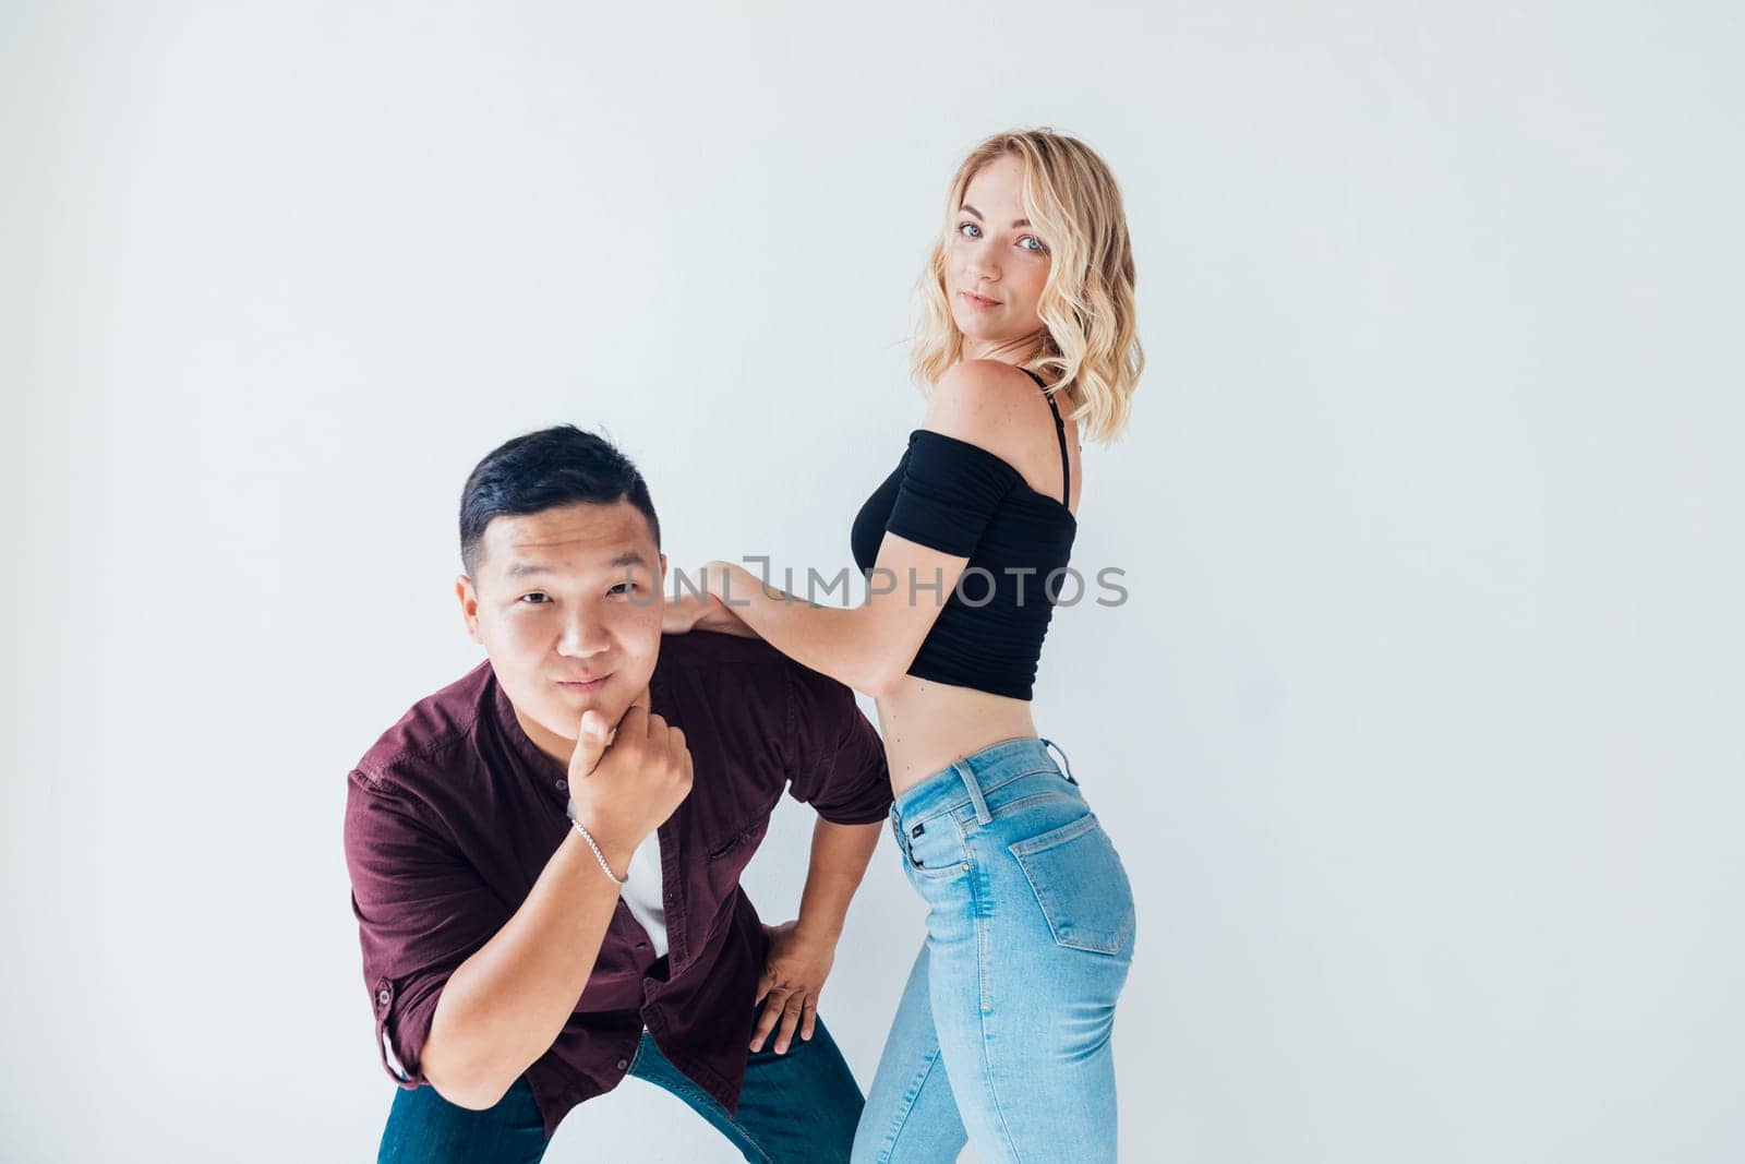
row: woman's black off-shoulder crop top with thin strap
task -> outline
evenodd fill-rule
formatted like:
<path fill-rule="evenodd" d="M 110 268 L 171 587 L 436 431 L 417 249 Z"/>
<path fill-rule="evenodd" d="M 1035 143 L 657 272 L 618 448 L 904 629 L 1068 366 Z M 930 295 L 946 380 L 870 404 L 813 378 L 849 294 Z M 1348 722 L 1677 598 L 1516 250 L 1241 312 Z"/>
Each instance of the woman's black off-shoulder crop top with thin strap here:
<path fill-rule="evenodd" d="M 1024 373 L 1047 393 L 1042 377 L 1028 368 Z M 1064 574 L 1078 532 L 1078 520 L 1066 508 L 1071 497 L 1066 424 L 1054 396 L 1047 400 L 1061 442 L 1059 501 L 1038 494 L 1010 462 L 981 445 L 914 429 L 897 469 L 855 517 L 850 544 L 862 576 L 878 562 L 886 531 L 968 558 L 963 579 L 946 597 L 909 665 L 918 679 L 1014 700 L 1031 696 L 1054 600 L 1078 590 Z M 935 592 L 920 588 L 928 579 L 916 581 L 913 600 L 937 602 Z M 893 581 L 878 585 L 888 588 Z M 909 579 L 895 579 L 895 593 L 907 599 Z"/>

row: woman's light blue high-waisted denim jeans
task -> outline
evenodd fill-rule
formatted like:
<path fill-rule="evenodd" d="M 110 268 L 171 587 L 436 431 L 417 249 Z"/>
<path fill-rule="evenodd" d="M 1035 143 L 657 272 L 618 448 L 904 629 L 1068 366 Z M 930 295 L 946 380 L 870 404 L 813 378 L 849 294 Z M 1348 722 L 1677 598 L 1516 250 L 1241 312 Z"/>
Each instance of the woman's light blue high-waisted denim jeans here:
<path fill-rule="evenodd" d="M 1115 1159 L 1115 1000 L 1133 888 L 1049 740 L 1002 740 L 892 806 L 927 942 L 853 1159 Z M 1059 749 L 1056 749 L 1059 750 Z M 1061 752 L 1064 759 L 1064 752 Z"/>

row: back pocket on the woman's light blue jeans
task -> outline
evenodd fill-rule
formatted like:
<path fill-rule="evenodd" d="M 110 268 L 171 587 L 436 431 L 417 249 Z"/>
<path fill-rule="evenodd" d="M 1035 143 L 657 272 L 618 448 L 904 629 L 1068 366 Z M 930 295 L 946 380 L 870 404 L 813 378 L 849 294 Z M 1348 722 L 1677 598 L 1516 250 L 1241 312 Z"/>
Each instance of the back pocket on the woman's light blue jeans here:
<path fill-rule="evenodd" d="M 1094 813 L 1007 845 L 1037 894 L 1057 946 L 1133 953 L 1133 885 Z"/>

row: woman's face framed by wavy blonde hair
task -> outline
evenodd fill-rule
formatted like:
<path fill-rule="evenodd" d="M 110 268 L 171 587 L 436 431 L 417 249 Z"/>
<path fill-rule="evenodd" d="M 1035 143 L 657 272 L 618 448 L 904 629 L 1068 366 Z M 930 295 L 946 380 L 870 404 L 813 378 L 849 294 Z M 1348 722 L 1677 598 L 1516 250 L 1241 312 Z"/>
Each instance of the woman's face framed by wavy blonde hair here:
<path fill-rule="evenodd" d="M 946 295 L 963 333 L 963 358 L 1023 358 L 1045 328 L 1037 304 L 1049 248 L 1024 218 L 1024 162 L 1012 154 L 982 166 L 946 243 Z"/>

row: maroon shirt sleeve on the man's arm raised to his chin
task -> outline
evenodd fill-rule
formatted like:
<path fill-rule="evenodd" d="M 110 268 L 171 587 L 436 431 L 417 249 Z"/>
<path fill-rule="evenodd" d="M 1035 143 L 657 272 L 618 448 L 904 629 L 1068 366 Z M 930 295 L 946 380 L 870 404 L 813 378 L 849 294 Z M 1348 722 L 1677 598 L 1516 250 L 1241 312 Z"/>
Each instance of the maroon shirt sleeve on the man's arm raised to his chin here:
<path fill-rule="evenodd" d="M 501 904 L 415 796 L 352 771 L 346 864 L 382 1068 L 401 1087 L 422 1054 L 448 976 L 499 928 Z"/>

